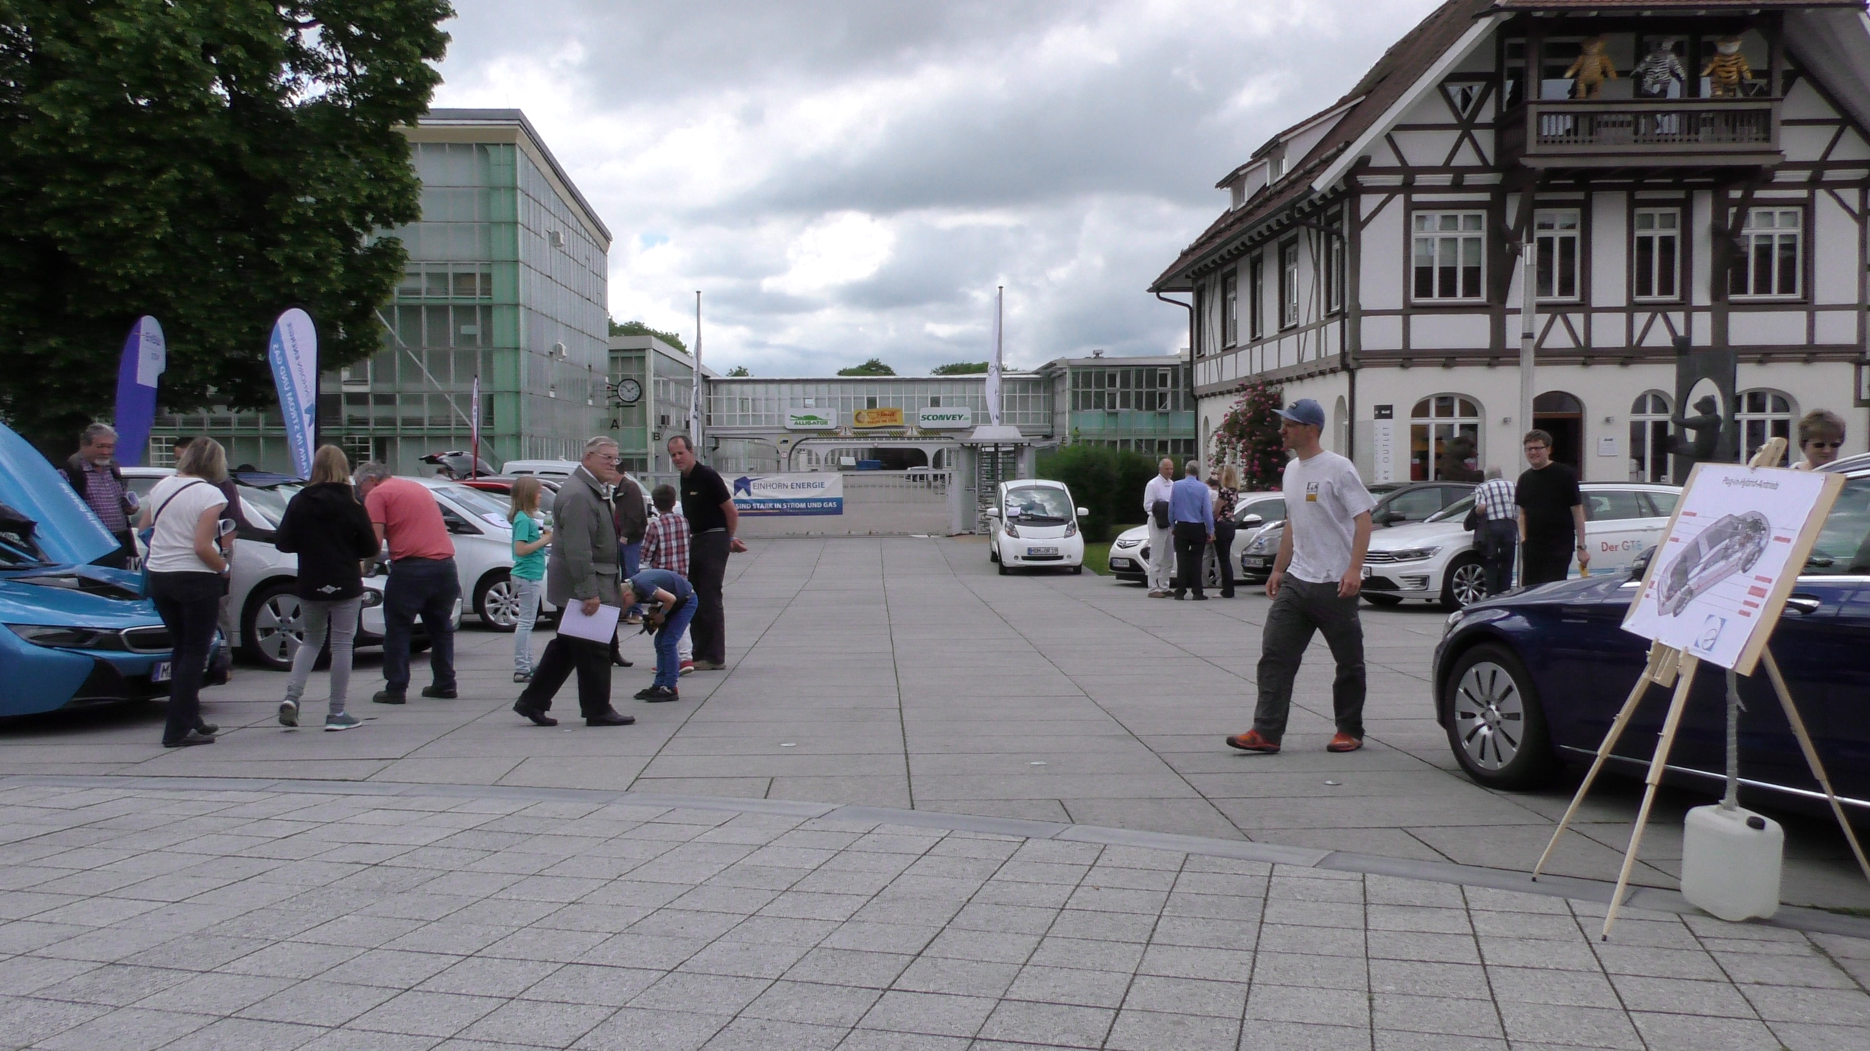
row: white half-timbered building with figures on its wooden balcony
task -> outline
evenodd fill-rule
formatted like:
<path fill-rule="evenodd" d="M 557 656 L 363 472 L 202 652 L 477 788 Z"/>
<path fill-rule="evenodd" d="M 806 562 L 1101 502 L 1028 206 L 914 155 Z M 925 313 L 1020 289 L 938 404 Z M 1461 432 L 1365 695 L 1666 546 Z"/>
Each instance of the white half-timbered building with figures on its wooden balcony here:
<path fill-rule="evenodd" d="M 1739 353 L 1748 449 L 1827 408 L 1863 451 L 1866 129 L 1863 0 L 1447 0 L 1229 172 L 1152 286 L 1193 295 L 1202 449 L 1268 380 L 1371 481 L 1511 475 L 1528 426 L 1588 481 L 1666 481 L 1687 337 Z"/>

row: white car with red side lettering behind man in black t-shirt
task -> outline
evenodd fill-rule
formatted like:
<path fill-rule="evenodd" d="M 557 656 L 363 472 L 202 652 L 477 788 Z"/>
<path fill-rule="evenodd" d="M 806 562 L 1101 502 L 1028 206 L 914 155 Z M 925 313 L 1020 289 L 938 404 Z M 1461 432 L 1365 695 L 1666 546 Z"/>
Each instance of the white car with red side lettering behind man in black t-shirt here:
<path fill-rule="evenodd" d="M 1653 548 L 1681 497 L 1677 486 L 1640 482 L 1584 482 L 1578 490 L 1593 574 L 1625 569 Z M 1447 610 L 1485 598 L 1481 555 L 1462 527 L 1472 509 L 1470 496 L 1427 522 L 1378 529 L 1363 559 L 1363 597 L 1378 606 L 1423 598 Z"/>

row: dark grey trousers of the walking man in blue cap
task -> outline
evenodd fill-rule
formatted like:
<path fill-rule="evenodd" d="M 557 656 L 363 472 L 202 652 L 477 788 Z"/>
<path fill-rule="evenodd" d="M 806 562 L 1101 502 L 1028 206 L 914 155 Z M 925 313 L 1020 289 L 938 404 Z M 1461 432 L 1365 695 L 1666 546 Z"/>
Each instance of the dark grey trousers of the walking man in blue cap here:
<path fill-rule="evenodd" d="M 1331 681 L 1331 714 L 1339 733 L 1363 739 L 1363 623 L 1358 621 L 1358 597 L 1337 597 L 1337 582 L 1309 583 L 1287 576 L 1279 595 L 1266 612 L 1266 630 L 1260 636 L 1260 703 L 1253 709 L 1253 729 L 1268 741 L 1285 737 L 1287 714 L 1292 711 L 1292 679 L 1298 662 L 1311 645 L 1311 632 L 1324 632 L 1324 643 L 1337 660 L 1337 679 Z"/>

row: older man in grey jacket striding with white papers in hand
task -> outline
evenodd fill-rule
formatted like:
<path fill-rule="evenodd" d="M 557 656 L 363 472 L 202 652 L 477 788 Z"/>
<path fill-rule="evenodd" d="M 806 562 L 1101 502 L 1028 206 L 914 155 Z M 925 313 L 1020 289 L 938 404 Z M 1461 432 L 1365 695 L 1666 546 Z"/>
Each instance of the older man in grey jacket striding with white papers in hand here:
<path fill-rule="evenodd" d="M 617 593 L 617 524 L 611 518 L 610 486 L 617 471 L 617 443 L 598 436 L 585 441 L 583 462 L 559 486 L 552 507 L 552 555 L 546 559 L 546 600 L 561 610 L 572 602 L 595 615 L 598 606 L 623 608 Z M 630 726 L 636 716 L 610 707 L 610 645 L 572 636 L 552 636 L 533 669 L 533 681 L 512 703 L 512 711 L 537 726 L 557 726 L 546 714 L 554 694 L 578 671 L 578 711 L 585 726 Z"/>

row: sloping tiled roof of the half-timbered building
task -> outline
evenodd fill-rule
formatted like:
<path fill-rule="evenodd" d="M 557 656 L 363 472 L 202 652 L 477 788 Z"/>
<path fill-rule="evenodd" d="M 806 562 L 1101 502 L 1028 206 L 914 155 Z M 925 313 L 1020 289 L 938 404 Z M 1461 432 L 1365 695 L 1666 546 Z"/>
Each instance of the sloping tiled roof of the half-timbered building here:
<path fill-rule="evenodd" d="M 1328 131 L 1309 153 L 1296 159 L 1279 181 L 1262 189 L 1242 208 L 1221 213 L 1221 217 L 1216 219 L 1214 224 L 1201 234 L 1201 238 L 1195 238 L 1195 243 L 1184 249 L 1174 264 L 1150 284 L 1150 292 L 1186 288 L 1186 282 L 1174 282 L 1184 269 L 1221 247 L 1221 243 L 1229 241 L 1236 234 L 1251 228 L 1260 219 L 1266 219 L 1279 208 L 1311 193 L 1311 180 L 1315 180 L 1318 172 L 1331 163 L 1331 159 L 1343 153 L 1345 148 L 1356 142 L 1359 135 L 1376 123 L 1376 120 L 1382 118 L 1382 114 L 1410 90 L 1416 79 L 1421 77 L 1421 73 L 1436 58 L 1440 58 L 1444 50 L 1453 47 L 1455 41 L 1459 41 L 1460 36 L 1474 26 L 1474 19 L 1492 13 L 1494 4 L 1496 0 L 1446 0 L 1414 30 L 1404 34 L 1402 39 L 1389 45 L 1389 50 L 1376 60 L 1376 65 L 1371 65 L 1371 71 L 1365 73 L 1354 88 L 1345 92 L 1341 99 L 1320 112 L 1333 110 L 1350 99 L 1359 99 L 1358 105 L 1339 118 L 1331 131 Z"/>

